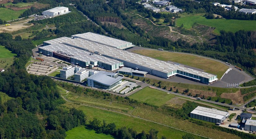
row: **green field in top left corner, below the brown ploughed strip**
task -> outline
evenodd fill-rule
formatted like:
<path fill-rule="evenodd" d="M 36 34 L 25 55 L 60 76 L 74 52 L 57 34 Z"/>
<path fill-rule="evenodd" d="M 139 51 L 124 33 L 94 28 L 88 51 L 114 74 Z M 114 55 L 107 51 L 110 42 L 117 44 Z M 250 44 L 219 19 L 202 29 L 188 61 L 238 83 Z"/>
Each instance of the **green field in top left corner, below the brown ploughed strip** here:
<path fill-rule="evenodd" d="M 20 11 L 13 11 L 7 8 L 0 8 L 0 17 L 2 20 L 14 20 L 14 19 L 18 19 L 18 17 L 20 16 L 20 14 L 22 14 L 24 11 L 26 11 L 27 9 L 23 9 Z"/>

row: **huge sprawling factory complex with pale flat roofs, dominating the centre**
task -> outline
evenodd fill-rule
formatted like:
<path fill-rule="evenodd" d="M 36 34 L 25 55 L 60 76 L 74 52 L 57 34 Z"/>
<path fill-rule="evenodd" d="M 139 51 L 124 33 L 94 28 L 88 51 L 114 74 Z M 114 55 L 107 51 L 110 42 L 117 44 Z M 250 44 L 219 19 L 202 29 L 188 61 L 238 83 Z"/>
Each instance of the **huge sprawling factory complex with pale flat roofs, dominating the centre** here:
<path fill-rule="evenodd" d="M 133 46 L 129 42 L 88 32 L 45 41 L 38 51 L 82 67 L 98 66 L 112 71 L 125 66 L 161 78 L 181 76 L 206 84 L 218 80 L 217 75 L 200 69 L 122 50 Z"/>

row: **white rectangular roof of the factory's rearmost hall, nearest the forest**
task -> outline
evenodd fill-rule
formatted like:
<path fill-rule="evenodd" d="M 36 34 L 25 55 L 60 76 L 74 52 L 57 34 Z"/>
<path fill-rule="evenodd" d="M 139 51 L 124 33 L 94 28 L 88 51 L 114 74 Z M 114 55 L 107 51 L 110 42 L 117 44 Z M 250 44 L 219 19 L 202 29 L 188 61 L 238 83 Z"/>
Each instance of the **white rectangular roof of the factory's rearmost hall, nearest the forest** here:
<path fill-rule="evenodd" d="M 131 44 L 130 42 L 126 42 L 126 41 L 119 40 L 119 39 L 116 39 L 116 38 L 110 38 L 110 37 L 100 35 L 100 34 L 96 34 L 96 33 L 92 33 L 92 32 L 87 32 L 87 33 L 83 33 L 83 34 L 76 34 L 76 35 L 72 35 L 72 36 L 78 37 L 78 38 L 83 38 L 84 40 L 92 41 L 94 43 L 109 45 L 109 46 L 112 46 L 112 47 L 119 47 L 119 46 L 122 46 L 122 45 Z"/>

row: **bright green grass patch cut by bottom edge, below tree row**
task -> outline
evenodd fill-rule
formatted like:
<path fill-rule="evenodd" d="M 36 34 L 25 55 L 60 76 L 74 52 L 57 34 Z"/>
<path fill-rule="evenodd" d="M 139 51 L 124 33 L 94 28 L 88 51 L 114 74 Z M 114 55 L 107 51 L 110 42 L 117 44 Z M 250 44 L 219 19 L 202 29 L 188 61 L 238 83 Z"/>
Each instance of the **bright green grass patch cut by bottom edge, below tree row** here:
<path fill-rule="evenodd" d="M 111 135 L 97 134 L 94 130 L 88 130 L 84 126 L 75 127 L 66 132 L 65 139 L 114 139 Z"/>

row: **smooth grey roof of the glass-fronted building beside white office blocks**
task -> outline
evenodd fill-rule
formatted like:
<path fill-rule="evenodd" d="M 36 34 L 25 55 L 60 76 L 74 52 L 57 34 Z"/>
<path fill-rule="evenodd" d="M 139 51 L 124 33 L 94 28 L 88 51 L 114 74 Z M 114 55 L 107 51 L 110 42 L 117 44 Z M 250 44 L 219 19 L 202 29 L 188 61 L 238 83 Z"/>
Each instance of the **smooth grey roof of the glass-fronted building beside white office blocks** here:
<path fill-rule="evenodd" d="M 105 85 L 112 85 L 113 83 L 118 82 L 119 80 L 121 80 L 124 77 L 121 76 L 117 76 L 116 78 L 110 77 L 108 76 L 108 72 L 106 71 L 99 71 L 97 74 L 93 74 L 92 76 L 88 77 L 87 79 L 91 79 L 94 80 L 96 82 L 99 82 L 101 84 L 105 84 Z"/>

